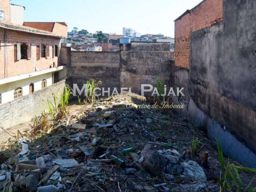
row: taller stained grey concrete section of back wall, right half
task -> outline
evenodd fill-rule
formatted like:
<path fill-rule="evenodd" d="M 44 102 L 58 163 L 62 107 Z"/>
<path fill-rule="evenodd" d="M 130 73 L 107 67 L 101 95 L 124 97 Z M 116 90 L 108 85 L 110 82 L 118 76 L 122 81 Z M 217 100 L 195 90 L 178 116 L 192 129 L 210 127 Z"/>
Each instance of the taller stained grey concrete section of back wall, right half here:
<path fill-rule="evenodd" d="M 141 43 L 120 45 L 120 85 L 141 93 L 141 84 L 156 86 L 160 78 L 170 87 L 170 44 Z"/>

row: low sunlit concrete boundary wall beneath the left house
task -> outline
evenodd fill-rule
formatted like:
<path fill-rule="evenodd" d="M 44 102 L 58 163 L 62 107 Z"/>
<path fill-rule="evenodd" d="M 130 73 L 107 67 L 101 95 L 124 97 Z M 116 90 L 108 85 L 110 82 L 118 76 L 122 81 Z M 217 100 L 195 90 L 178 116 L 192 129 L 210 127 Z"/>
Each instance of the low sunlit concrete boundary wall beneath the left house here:
<path fill-rule="evenodd" d="M 3 128 L 9 128 L 30 121 L 34 116 L 41 114 L 44 109 L 47 111 L 47 99 L 53 102 L 52 91 L 60 95 L 64 90 L 65 82 L 62 80 L 32 94 L 2 104 L 0 106 L 0 125 Z"/>

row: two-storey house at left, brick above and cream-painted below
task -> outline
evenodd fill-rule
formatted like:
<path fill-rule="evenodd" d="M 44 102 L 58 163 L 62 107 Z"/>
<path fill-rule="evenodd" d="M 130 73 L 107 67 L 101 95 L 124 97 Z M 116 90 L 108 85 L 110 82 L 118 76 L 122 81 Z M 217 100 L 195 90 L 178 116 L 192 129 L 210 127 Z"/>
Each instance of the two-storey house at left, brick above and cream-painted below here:
<path fill-rule="evenodd" d="M 20 18 L 25 8 L 17 6 L 10 0 L 0 1 L 0 104 L 66 77 L 66 66 L 61 66 L 59 56 L 67 25 L 23 22 Z"/>

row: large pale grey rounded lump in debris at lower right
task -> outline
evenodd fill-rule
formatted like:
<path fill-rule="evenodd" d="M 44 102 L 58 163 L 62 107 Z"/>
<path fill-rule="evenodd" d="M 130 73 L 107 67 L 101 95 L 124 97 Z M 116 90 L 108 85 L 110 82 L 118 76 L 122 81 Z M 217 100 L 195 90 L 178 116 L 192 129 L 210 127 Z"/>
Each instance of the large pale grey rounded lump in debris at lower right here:
<path fill-rule="evenodd" d="M 190 160 L 188 162 L 182 162 L 181 166 L 184 169 L 183 175 L 186 179 L 197 182 L 207 182 L 204 170 L 198 165 L 197 162 Z"/>

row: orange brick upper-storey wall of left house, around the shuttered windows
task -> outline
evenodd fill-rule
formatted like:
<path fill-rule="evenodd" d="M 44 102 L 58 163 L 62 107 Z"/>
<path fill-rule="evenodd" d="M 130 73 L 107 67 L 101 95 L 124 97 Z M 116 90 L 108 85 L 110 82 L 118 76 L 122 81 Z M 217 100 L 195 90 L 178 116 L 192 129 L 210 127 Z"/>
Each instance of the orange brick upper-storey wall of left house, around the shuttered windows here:
<path fill-rule="evenodd" d="M 7 34 L 7 67 L 8 77 L 34 72 L 35 67 L 44 70 L 53 67 L 53 62 L 59 65 L 58 57 L 52 58 L 52 45 L 60 45 L 60 38 L 47 37 L 25 32 L 6 30 Z M 4 29 L 0 29 L 0 78 L 5 77 L 4 60 Z M 14 45 L 16 42 L 32 44 L 31 59 L 14 62 Z M 36 60 L 36 45 L 50 45 L 50 57 Z"/>

